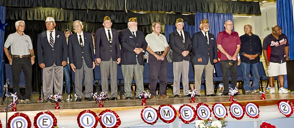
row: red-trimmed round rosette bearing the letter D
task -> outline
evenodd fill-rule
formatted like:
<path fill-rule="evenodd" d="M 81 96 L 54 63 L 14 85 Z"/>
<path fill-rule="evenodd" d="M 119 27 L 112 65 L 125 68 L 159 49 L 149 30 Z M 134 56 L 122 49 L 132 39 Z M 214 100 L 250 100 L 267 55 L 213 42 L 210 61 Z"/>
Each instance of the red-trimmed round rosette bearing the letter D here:
<path fill-rule="evenodd" d="M 15 113 L 9 119 L 7 123 L 8 128 L 30 128 L 32 123 L 28 115 L 25 113 Z"/>

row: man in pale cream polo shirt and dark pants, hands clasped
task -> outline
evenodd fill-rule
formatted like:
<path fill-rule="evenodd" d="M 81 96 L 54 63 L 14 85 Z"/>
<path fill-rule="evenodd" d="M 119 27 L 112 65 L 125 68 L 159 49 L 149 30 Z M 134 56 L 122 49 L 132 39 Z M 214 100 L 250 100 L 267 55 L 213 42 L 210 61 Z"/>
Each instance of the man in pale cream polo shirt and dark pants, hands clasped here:
<path fill-rule="evenodd" d="M 167 62 L 165 55 L 168 51 L 169 44 L 166 41 L 164 35 L 160 34 L 161 26 L 160 22 L 152 23 L 151 34 L 146 35 L 145 40 L 148 44 L 147 51 L 149 52 L 149 84 L 151 98 L 156 98 L 156 85 L 159 78 L 159 90 L 160 98 L 169 98 L 166 95 L 166 85 L 167 85 Z"/>

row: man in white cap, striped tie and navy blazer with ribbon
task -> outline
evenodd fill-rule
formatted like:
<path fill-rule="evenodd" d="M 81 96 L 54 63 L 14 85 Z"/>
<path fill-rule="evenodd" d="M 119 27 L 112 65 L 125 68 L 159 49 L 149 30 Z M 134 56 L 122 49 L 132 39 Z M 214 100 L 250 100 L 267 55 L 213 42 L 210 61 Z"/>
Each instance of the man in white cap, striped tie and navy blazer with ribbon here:
<path fill-rule="evenodd" d="M 68 48 L 63 32 L 55 30 L 53 17 L 46 18 L 47 31 L 38 35 L 38 64 L 43 69 L 43 93 L 46 103 L 51 103 L 49 95 L 62 96 L 63 66 L 67 64 Z M 59 102 L 63 102 L 60 100 Z"/>

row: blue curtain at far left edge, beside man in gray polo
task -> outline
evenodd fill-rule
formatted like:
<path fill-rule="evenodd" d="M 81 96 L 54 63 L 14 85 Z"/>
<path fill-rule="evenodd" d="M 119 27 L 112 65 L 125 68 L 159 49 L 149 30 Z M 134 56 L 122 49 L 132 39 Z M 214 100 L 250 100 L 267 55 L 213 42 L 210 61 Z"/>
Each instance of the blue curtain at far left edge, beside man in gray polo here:
<path fill-rule="evenodd" d="M 6 7 L 0 6 L 0 19 L 2 24 L 5 23 Z M 3 58 L 3 47 L 4 47 L 4 31 L 0 30 L 0 96 L 3 95 L 3 85 L 5 84 L 4 78 L 4 58 Z"/>

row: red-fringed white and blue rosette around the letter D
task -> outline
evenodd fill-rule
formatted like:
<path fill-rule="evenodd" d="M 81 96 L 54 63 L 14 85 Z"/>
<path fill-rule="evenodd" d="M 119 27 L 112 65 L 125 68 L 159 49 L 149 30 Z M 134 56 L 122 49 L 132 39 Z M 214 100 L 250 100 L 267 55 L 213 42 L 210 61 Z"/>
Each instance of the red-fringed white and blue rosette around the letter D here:
<path fill-rule="evenodd" d="M 24 127 L 26 127 L 26 128 L 32 127 L 32 123 L 31 123 L 31 120 L 28 117 L 28 115 L 26 115 L 25 113 L 14 113 L 8 119 L 7 128 L 13 128 L 14 126 L 11 126 L 11 125 L 16 123 L 16 121 L 22 122 L 22 125 L 24 125 Z"/>

